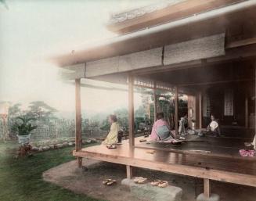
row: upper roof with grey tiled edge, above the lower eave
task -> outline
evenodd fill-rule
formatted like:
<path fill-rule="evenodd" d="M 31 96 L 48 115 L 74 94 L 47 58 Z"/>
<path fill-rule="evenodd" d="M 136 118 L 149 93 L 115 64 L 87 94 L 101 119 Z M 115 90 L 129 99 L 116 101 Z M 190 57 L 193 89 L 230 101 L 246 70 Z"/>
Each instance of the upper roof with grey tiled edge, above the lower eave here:
<path fill-rule="evenodd" d="M 110 17 L 107 28 L 118 34 L 127 34 L 162 23 L 182 19 L 230 5 L 239 0 L 165 0 Z"/>

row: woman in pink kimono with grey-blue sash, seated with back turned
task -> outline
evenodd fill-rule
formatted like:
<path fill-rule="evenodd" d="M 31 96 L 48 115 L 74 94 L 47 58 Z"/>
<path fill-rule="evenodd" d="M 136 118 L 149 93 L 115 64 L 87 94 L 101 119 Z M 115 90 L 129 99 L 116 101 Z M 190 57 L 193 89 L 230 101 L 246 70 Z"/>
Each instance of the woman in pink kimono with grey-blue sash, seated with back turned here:
<path fill-rule="evenodd" d="M 165 142 L 173 139 L 167 122 L 164 120 L 164 113 L 157 113 L 157 121 L 153 124 L 151 140 Z"/>

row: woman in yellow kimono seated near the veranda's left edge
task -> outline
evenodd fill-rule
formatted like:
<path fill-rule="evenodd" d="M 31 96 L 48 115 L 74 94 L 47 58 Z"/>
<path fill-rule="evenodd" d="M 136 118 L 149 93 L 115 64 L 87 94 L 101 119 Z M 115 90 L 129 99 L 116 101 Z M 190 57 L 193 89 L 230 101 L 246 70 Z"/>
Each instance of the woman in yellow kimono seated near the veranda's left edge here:
<path fill-rule="evenodd" d="M 117 123 L 117 116 L 111 114 L 109 117 L 110 122 L 110 132 L 106 136 L 106 139 L 103 141 L 103 145 L 114 145 L 117 143 L 117 135 L 119 131 L 119 124 Z"/>

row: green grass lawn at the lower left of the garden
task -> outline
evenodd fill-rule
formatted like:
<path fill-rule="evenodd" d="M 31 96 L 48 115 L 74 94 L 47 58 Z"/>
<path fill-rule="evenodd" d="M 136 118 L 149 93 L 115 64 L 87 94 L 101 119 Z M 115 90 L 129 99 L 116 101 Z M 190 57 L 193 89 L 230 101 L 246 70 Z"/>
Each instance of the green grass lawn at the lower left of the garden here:
<path fill-rule="evenodd" d="M 0 142 L 0 200 L 1 201 L 96 201 L 70 192 L 42 179 L 42 172 L 61 163 L 74 160 L 74 147 L 37 153 L 16 159 L 17 144 Z"/>

